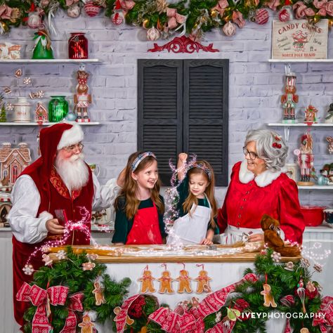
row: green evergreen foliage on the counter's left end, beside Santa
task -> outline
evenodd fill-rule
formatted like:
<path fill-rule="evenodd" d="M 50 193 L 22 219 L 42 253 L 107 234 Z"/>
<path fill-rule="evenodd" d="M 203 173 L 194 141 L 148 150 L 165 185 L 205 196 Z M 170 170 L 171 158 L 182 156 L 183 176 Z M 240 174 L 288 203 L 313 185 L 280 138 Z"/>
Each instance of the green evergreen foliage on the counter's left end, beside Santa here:
<path fill-rule="evenodd" d="M 105 322 L 112 317 L 113 309 L 121 306 L 124 296 L 128 294 L 128 287 L 131 284 L 129 278 L 124 278 L 120 282 L 115 282 L 105 273 L 106 266 L 101 263 L 95 263 L 92 270 L 83 270 L 82 264 L 89 262 L 86 253 L 74 254 L 72 247 L 67 247 L 67 259 L 53 263 L 51 267 L 44 266 L 34 273 L 34 280 L 30 285 L 37 285 L 43 289 L 63 285 L 70 290 L 67 295 L 65 306 L 52 306 L 53 332 L 60 332 L 65 325 L 65 319 L 68 315 L 69 298 L 72 294 L 83 292 L 84 311 L 96 311 L 98 322 Z M 103 284 L 103 294 L 106 303 L 96 306 L 95 295 L 93 294 L 93 282 L 99 279 Z M 31 332 L 31 322 L 36 313 L 36 306 L 31 306 L 25 312 L 25 332 Z M 81 317 L 82 313 L 77 313 Z M 81 319 L 81 318 L 80 318 Z M 80 322 L 80 320 L 78 321 Z"/>

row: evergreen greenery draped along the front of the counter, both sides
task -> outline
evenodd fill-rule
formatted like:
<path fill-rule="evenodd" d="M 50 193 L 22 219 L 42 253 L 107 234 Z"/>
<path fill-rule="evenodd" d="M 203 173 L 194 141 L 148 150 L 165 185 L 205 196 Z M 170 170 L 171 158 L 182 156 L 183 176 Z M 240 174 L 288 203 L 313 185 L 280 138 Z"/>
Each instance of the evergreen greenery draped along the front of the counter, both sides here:
<path fill-rule="evenodd" d="M 268 314 L 275 311 L 280 313 L 289 313 L 290 327 L 294 332 L 300 332 L 304 327 L 308 328 L 311 333 L 320 333 L 320 327 L 313 326 L 313 318 L 311 313 L 320 311 L 322 299 L 319 293 L 320 285 L 318 282 L 311 281 L 311 273 L 308 270 L 308 262 L 304 259 L 294 263 L 290 269 L 290 263 L 277 262 L 277 256 L 274 255 L 273 249 L 266 249 L 261 254 L 256 256 L 254 270 L 247 268 L 244 270 L 244 275 L 254 273 L 258 280 L 244 282 L 237 285 L 235 292 L 228 296 L 226 303 L 216 313 L 211 313 L 204 318 L 205 331 L 216 325 L 219 321 L 231 318 L 235 320 L 233 332 L 235 333 L 255 333 L 266 332 L 266 321 Z M 74 254 L 71 247 L 67 247 L 67 258 L 58 263 L 54 263 L 51 267 L 41 267 L 34 273 L 34 280 L 30 285 L 38 285 L 46 289 L 57 285 L 63 285 L 70 288 L 69 296 L 76 292 L 84 293 L 83 306 L 84 311 L 96 311 L 96 322 L 103 323 L 108 318 L 115 318 L 113 312 L 117 306 L 121 306 L 124 301 L 124 296 L 128 294 L 128 287 L 131 283 L 129 278 L 124 278 L 121 282 L 115 282 L 110 279 L 110 276 L 105 274 L 106 266 L 96 263 L 92 270 L 82 270 L 82 264 L 91 261 L 86 254 Z M 288 268 L 288 269 L 286 269 Z M 96 278 L 101 277 L 103 281 L 103 294 L 106 303 L 100 306 L 95 304 L 95 296 L 93 295 L 93 282 Z M 304 306 L 306 314 L 304 318 L 298 318 L 299 313 L 303 312 L 303 304 L 297 293 L 301 281 L 305 290 Z M 307 284 L 311 283 L 314 290 L 309 290 Z M 271 287 L 271 294 L 278 304 L 276 308 L 263 306 L 263 284 L 267 283 Z M 287 304 L 281 299 L 289 296 L 292 302 Z M 183 306 L 187 307 L 187 311 L 193 306 L 192 303 L 186 303 Z M 161 307 L 168 307 L 166 304 L 161 304 Z M 53 332 L 60 332 L 65 325 L 65 318 L 68 314 L 68 303 L 65 306 L 51 306 Z M 152 332 L 163 333 L 164 330 L 156 323 L 149 320 L 149 315 L 159 308 L 159 303 L 155 296 L 149 294 L 141 294 L 133 301 L 129 308 L 129 318 L 133 320 L 132 325 L 127 325 L 125 333 L 131 332 Z M 230 311 L 230 309 L 232 311 Z M 25 326 L 25 332 L 31 332 L 31 322 L 36 312 L 37 307 L 31 306 L 25 313 L 25 320 L 28 324 Z M 239 311 L 239 312 L 237 312 Z M 266 316 L 261 318 L 244 318 L 240 313 L 266 313 Z M 293 313 L 296 313 L 295 318 Z M 82 314 L 79 315 L 80 322 Z M 115 329 L 115 322 L 113 322 Z"/>

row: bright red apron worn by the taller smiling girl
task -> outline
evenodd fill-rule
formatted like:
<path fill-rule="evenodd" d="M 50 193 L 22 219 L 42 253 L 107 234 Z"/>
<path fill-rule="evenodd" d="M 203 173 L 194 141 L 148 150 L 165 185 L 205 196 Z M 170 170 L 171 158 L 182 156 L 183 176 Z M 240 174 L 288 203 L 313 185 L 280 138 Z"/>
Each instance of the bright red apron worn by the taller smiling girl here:
<path fill-rule="evenodd" d="M 152 204 L 153 207 L 138 209 L 126 244 L 162 244 L 157 208 Z"/>

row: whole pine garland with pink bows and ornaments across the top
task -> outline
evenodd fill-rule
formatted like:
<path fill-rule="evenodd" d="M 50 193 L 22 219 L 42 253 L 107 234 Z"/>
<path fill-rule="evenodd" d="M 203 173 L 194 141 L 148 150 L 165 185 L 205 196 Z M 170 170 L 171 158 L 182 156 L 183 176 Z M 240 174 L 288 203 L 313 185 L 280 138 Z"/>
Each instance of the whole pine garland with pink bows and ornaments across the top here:
<path fill-rule="evenodd" d="M 148 30 L 149 40 L 166 39 L 172 34 L 189 34 L 198 40 L 204 32 L 221 29 L 232 36 L 242 28 L 245 20 L 259 25 L 268 22 L 267 8 L 278 11 L 278 19 L 285 22 L 296 18 L 315 24 L 323 18 L 333 25 L 333 0 L 4 0 L 0 5 L 0 34 L 10 27 L 28 25 L 36 29 L 62 9 L 71 18 L 79 15 L 93 17 L 104 9 L 113 24 L 126 21 Z"/>

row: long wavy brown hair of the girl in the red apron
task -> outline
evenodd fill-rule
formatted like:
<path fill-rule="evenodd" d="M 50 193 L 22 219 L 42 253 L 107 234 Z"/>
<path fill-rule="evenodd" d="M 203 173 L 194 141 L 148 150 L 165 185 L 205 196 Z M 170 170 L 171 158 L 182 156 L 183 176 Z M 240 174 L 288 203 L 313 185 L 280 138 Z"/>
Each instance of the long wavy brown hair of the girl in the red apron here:
<path fill-rule="evenodd" d="M 125 183 L 124 187 L 120 191 L 118 197 L 115 200 L 115 209 L 119 209 L 119 200 L 124 199 L 126 204 L 124 207 L 124 211 L 126 214 L 126 217 L 131 219 L 135 216 L 136 212 L 138 211 L 138 207 L 140 204 L 140 200 L 136 197 L 136 191 L 138 190 L 138 184 L 136 181 L 132 178 L 132 169 L 131 165 L 133 164 L 134 160 L 138 155 L 142 154 L 143 152 L 133 152 L 129 156 L 129 160 L 127 161 L 126 165 L 126 171 L 125 171 Z M 148 156 L 145 157 L 140 164 L 138 164 L 135 171 L 133 171 L 134 174 L 138 174 L 141 170 L 145 169 L 146 167 L 150 166 L 152 162 L 156 161 L 155 157 Z M 157 179 L 157 182 L 155 183 L 154 188 L 151 190 L 151 199 L 152 202 L 154 202 L 157 206 L 157 210 L 159 214 L 164 214 L 164 203 L 159 198 L 159 188 L 161 187 L 161 181 L 159 181 L 159 178 Z"/>

